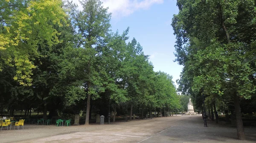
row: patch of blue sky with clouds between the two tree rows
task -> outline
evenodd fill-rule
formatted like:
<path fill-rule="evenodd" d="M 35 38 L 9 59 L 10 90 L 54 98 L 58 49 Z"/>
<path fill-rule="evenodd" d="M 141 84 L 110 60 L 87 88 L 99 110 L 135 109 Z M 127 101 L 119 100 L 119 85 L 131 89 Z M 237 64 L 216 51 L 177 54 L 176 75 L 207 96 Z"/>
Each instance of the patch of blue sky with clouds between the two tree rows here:
<path fill-rule="evenodd" d="M 140 42 L 145 55 L 154 65 L 154 71 L 163 71 L 176 80 L 181 65 L 174 62 L 175 35 L 172 30 L 173 14 L 178 14 L 176 0 L 101 0 L 112 13 L 111 29 L 119 33 L 130 27 L 128 41 L 133 37 Z M 79 5 L 78 0 L 73 0 Z M 81 8 L 81 7 L 80 7 Z"/>

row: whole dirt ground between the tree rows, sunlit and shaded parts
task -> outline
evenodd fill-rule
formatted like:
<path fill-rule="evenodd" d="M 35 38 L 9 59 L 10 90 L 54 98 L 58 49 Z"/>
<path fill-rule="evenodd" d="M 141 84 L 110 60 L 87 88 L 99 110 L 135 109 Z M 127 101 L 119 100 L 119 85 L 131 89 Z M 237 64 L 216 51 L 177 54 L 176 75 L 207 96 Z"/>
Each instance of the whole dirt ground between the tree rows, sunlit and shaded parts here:
<path fill-rule="evenodd" d="M 201 116 L 171 116 L 88 126 L 24 125 L 0 131 L 0 143 L 256 143 L 256 128 L 245 128 L 247 140 L 236 140 L 236 128 Z"/>

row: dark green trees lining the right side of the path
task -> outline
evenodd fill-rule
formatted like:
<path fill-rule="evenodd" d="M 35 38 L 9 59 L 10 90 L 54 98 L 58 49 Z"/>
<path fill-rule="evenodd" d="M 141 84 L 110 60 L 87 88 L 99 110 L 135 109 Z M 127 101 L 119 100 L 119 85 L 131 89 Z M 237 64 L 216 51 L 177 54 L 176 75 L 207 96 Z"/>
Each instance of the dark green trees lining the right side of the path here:
<path fill-rule="evenodd" d="M 177 0 L 177 6 L 176 61 L 184 66 L 179 90 L 199 109 L 204 94 L 208 109 L 235 114 L 244 140 L 240 103 L 250 106 L 244 112 L 256 111 L 256 1 Z"/>

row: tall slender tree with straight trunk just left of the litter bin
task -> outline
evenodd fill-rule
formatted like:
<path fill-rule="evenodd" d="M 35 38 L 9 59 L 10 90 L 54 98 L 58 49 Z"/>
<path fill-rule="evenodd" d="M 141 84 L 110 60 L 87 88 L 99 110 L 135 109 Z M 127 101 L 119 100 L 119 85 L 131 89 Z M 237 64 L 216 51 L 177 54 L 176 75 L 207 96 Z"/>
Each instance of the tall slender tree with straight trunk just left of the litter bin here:
<path fill-rule="evenodd" d="M 103 79 L 100 74 L 105 74 L 102 63 L 102 49 L 106 46 L 106 36 L 110 31 L 110 18 L 108 9 L 103 8 L 100 0 L 80 1 L 82 11 L 73 11 L 73 22 L 80 35 L 79 70 L 77 81 L 83 86 L 87 93 L 87 109 L 85 124 L 89 124 L 91 95 L 97 95 L 104 91 Z"/>

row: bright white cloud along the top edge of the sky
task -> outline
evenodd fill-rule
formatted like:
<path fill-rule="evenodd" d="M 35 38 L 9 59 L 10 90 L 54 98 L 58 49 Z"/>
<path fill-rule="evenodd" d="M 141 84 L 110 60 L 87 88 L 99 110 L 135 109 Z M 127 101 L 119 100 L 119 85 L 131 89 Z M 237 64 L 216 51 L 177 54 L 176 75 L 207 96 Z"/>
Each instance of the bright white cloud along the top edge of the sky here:
<path fill-rule="evenodd" d="M 71 1 L 71 0 L 70 0 Z M 120 18 L 126 17 L 134 11 L 140 9 L 148 9 L 154 4 L 163 3 L 163 0 L 101 0 L 105 8 L 109 8 L 108 12 L 112 13 L 112 17 Z M 73 0 L 74 3 L 79 2 L 78 0 Z M 81 9 L 81 6 L 79 7 Z"/>

